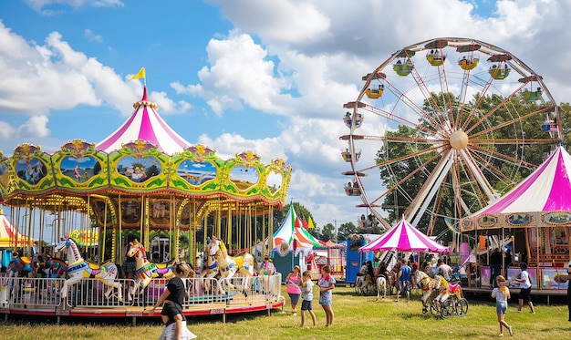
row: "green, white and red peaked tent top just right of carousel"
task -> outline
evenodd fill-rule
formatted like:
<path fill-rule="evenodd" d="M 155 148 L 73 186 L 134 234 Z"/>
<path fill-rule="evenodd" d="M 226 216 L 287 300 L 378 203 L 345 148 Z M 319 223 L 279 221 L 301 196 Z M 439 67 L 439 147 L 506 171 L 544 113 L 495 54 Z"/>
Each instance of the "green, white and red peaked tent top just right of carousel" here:
<path fill-rule="evenodd" d="M 325 242 L 317 240 L 303 228 L 294 210 L 294 205 L 290 204 L 282 226 L 274 233 L 274 252 L 285 255 L 291 250 L 299 252 L 323 246 L 326 246 Z"/>

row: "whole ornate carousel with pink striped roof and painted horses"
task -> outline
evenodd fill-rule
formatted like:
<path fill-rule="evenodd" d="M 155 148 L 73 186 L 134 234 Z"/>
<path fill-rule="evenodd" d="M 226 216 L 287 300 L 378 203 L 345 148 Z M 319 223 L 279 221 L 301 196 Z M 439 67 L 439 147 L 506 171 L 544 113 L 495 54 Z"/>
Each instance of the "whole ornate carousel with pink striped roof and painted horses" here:
<path fill-rule="evenodd" d="M 0 151 L 0 202 L 26 234 L 7 245 L 0 313 L 157 316 L 149 312 L 177 261 L 195 270 L 185 279 L 184 314 L 225 320 L 281 308 L 281 278 L 257 276 L 249 252 L 273 234 L 291 167 L 264 164 L 252 151 L 223 160 L 190 144 L 161 118 L 146 86 L 133 107 L 98 144 Z"/>

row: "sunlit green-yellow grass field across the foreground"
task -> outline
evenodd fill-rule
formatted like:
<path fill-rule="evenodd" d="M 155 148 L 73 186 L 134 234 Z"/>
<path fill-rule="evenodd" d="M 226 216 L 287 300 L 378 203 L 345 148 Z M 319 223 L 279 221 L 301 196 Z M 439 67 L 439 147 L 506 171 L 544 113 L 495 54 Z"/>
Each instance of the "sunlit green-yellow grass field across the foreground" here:
<path fill-rule="evenodd" d="M 469 298 L 468 314 L 448 319 L 421 313 L 420 295 L 413 294 L 410 303 L 393 298 L 376 301 L 376 296 L 357 296 L 353 289 L 337 287 L 333 295 L 335 323 L 325 327 L 325 314 L 314 298 L 317 327 L 299 328 L 299 313 L 228 315 L 223 324 L 220 315 L 189 318 L 189 328 L 199 339 L 489 339 L 497 337 L 499 326 L 495 304 L 486 295 L 479 300 Z M 285 294 L 285 289 L 283 294 Z M 286 295 L 285 295 L 286 296 Z M 286 297 L 285 311 L 289 298 Z M 514 327 L 514 337 L 525 339 L 568 339 L 571 322 L 567 321 L 564 300 L 558 304 L 536 304 L 536 314 L 515 313 L 514 296 L 505 320 Z M 309 315 L 307 315 L 309 317 Z M 311 325 L 306 321 L 306 325 Z M 41 320 L 20 320 L 11 316 L 0 323 L 2 339 L 157 339 L 161 334 L 160 320 L 140 322 L 131 326 L 122 320 L 65 320 L 60 325 Z M 509 337 L 507 331 L 504 337 Z"/>

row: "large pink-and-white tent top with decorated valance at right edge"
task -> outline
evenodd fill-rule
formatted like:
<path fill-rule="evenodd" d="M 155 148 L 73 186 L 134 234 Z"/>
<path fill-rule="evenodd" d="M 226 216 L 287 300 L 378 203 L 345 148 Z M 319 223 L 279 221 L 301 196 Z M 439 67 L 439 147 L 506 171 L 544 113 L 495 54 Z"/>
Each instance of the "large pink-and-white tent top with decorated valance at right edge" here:
<path fill-rule="evenodd" d="M 498 201 L 462 219 L 462 231 L 476 228 L 514 227 L 535 221 L 542 224 L 548 212 L 571 212 L 571 156 L 555 149 L 539 168 Z M 543 218 L 542 218 L 543 216 Z M 558 216 L 560 217 L 560 216 Z"/>

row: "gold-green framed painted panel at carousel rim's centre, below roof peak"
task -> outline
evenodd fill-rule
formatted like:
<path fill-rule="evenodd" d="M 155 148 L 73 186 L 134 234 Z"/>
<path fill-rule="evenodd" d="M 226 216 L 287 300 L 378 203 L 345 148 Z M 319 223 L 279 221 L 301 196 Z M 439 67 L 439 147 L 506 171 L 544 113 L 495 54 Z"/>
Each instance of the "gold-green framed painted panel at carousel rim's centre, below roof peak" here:
<path fill-rule="evenodd" d="M 170 157 L 144 140 L 123 144 L 109 154 L 110 185 L 124 191 L 168 189 Z"/>

